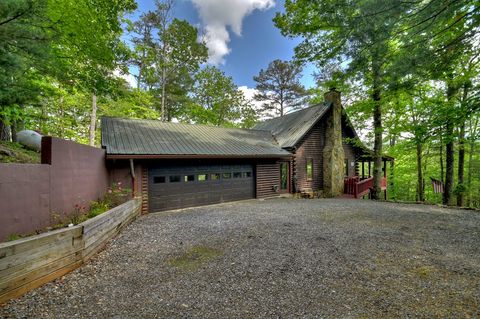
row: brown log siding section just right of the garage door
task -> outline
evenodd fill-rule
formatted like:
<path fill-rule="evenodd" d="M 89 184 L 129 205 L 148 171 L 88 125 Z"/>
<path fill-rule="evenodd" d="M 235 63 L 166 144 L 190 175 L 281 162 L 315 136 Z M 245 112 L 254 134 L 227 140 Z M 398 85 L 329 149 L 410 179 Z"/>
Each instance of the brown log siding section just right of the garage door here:
<path fill-rule="evenodd" d="M 279 194 L 274 187 L 280 188 L 280 163 L 262 163 L 256 166 L 257 198 L 276 196 Z"/>

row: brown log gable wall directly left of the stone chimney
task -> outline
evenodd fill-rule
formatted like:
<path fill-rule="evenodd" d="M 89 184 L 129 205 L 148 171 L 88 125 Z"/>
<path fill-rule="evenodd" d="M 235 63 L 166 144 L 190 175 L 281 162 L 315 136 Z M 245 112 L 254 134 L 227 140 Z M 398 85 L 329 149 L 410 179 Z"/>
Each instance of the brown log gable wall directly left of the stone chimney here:
<path fill-rule="evenodd" d="M 325 145 L 325 124 L 320 121 L 300 140 L 295 152 L 294 174 L 297 179 L 296 191 L 311 188 L 323 189 L 323 147 Z M 307 180 L 307 158 L 313 159 L 313 179 Z"/>

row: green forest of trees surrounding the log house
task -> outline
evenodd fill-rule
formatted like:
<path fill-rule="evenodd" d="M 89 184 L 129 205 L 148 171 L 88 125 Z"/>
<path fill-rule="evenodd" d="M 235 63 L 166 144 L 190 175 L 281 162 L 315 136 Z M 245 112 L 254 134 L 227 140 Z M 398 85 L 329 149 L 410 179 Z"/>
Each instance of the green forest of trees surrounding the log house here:
<path fill-rule="evenodd" d="M 31 129 L 98 145 L 101 116 L 250 128 L 336 87 L 373 149 L 374 199 L 388 154 L 390 199 L 480 207 L 477 1 L 286 0 L 272 23 L 301 41 L 258 71 L 253 100 L 174 6 L 133 19 L 135 0 L 0 1 L 1 143 Z M 306 63 L 314 89 L 300 84 Z"/>

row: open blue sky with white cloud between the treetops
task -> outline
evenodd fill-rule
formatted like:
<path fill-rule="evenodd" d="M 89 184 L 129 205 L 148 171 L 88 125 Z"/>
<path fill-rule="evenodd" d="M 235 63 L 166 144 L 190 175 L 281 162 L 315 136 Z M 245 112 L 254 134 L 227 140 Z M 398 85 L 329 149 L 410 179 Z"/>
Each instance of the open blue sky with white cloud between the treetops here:
<path fill-rule="evenodd" d="M 137 2 L 135 16 L 154 9 L 153 0 Z M 206 30 L 210 64 L 232 76 L 238 86 L 253 88 L 253 76 L 260 69 L 275 59 L 290 60 L 300 42 L 283 37 L 274 26 L 272 19 L 282 10 L 283 0 L 177 0 L 174 16 Z M 314 86 L 312 72 L 311 66 L 304 69 L 306 87 Z"/>

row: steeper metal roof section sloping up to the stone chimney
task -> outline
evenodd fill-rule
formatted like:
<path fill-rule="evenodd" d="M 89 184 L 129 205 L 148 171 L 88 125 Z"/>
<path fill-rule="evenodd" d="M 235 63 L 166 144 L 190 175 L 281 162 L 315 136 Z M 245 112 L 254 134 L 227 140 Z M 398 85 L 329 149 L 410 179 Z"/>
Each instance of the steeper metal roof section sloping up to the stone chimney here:
<path fill-rule="evenodd" d="M 294 147 L 327 112 L 331 103 L 323 102 L 300 111 L 258 123 L 254 129 L 272 132 L 280 147 Z"/>

